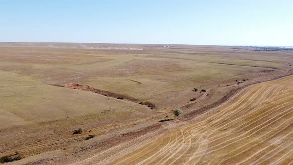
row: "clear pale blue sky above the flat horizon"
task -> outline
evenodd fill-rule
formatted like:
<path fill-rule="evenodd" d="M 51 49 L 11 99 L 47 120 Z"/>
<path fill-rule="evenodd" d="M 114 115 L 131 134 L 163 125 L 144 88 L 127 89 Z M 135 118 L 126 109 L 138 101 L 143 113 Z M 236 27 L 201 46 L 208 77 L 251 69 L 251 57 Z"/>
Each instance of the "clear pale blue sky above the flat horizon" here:
<path fill-rule="evenodd" d="M 0 42 L 293 45 L 293 0 L 0 0 Z"/>

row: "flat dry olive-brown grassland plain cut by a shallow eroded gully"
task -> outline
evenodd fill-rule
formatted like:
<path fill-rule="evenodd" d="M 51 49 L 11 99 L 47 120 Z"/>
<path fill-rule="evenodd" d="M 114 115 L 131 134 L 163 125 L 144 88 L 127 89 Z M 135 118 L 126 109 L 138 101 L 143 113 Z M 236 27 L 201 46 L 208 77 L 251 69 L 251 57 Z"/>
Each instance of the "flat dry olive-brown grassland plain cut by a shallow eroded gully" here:
<path fill-rule="evenodd" d="M 286 65 L 288 68 L 283 67 L 284 61 L 293 63 L 293 58 L 288 57 L 288 52 L 272 52 L 272 55 L 268 56 L 268 52 L 245 50 L 245 53 L 242 54 L 241 52 L 241 55 L 235 56 L 235 52 L 225 50 L 225 55 L 222 56 L 222 53 L 219 52 L 225 49 L 224 47 L 211 50 L 209 47 L 198 49 L 196 46 L 188 46 L 189 48 L 186 49 L 183 46 L 180 49 L 180 54 L 176 53 L 178 49 L 168 49 L 168 52 L 159 50 L 157 54 L 157 49 L 148 47 L 146 51 L 141 52 L 149 55 L 138 56 L 139 52 L 137 51 L 124 50 L 125 56 L 117 56 L 119 50 L 115 50 L 116 53 L 113 53 L 101 49 L 72 49 L 75 47 L 74 43 L 64 46 L 60 44 L 62 49 L 55 48 L 60 46 L 59 44 L 53 44 L 54 46 L 48 49 L 46 43 L 42 44 L 41 47 L 33 46 L 34 44 L 26 46 L 23 43 L 23 46 L 20 47 L 17 45 L 7 47 L 2 44 L 0 48 L 0 83 L 5 86 L 5 90 L 0 93 L 0 97 L 4 99 L 4 103 L 1 104 L 2 108 L 0 108 L 0 113 L 4 119 L 0 121 L 0 130 L 2 131 L 0 134 L 4 133 L 7 137 L 2 138 L 1 143 L 5 148 L 3 148 L 0 157 L 23 149 L 18 147 L 23 147 L 23 145 L 15 145 L 15 141 L 17 141 L 17 144 L 25 144 L 27 148 L 38 145 L 41 147 L 50 143 L 49 145 L 55 145 L 56 148 L 66 148 L 72 151 L 72 146 L 76 145 L 71 145 L 71 143 L 75 142 L 69 142 L 64 147 L 62 146 L 63 143 L 55 144 L 55 142 L 57 140 L 63 142 L 67 138 L 84 141 L 90 134 L 96 135 L 93 139 L 96 140 L 101 135 L 96 134 L 99 132 L 97 127 L 107 128 L 108 125 L 111 127 L 114 123 L 117 123 L 117 129 L 109 130 L 110 136 L 112 136 L 112 133 L 116 135 L 116 131 L 136 131 L 135 129 L 142 128 L 141 126 L 134 127 L 136 123 L 129 124 L 137 120 L 142 120 L 143 122 L 139 124 L 144 123 L 144 128 L 145 126 L 147 128 L 155 120 L 176 118 L 170 111 L 177 105 L 192 103 L 192 106 L 186 105 L 184 109 L 182 108 L 183 115 L 185 115 L 209 106 L 225 95 L 230 97 L 238 92 L 238 90 L 233 93 L 230 91 L 240 88 L 237 88 L 237 82 L 242 83 L 242 79 L 247 79 L 244 77 L 249 77 L 251 83 L 273 79 L 287 72 L 289 66 Z M 38 44 L 36 43 L 36 45 Z M 92 44 L 92 47 L 99 47 L 99 45 Z M 144 47 L 144 45 L 140 45 L 140 47 Z M 178 45 L 179 47 L 181 46 Z M 194 56 L 194 54 L 200 54 L 200 52 L 204 53 L 205 56 Z M 49 54 L 50 56 L 48 56 Z M 95 58 L 93 58 L 93 54 Z M 170 54 L 174 58 L 158 60 L 156 57 L 169 56 Z M 180 59 L 183 58 L 182 56 L 195 61 L 183 62 Z M 279 57 L 282 60 L 276 60 Z M 265 61 L 261 59 L 265 59 Z M 199 62 L 200 60 L 210 61 L 211 63 L 202 63 Z M 269 61 L 272 61 L 272 63 Z M 214 62 L 278 67 L 279 69 L 270 74 L 264 74 L 264 78 L 260 79 L 257 78 L 259 72 L 265 68 L 222 65 Z M 74 68 L 71 64 L 74 64 Z M 195 67 L 195 64 L 200 65 L 200 67 Z M 211 71 L 211 74 L 209 71 Z M 291 74 L 291 70 L 287 74 Z M 137 85 L 125 79 L 134 79 L 143 84 Z M 233 83 L 232 81 L 236 79 L 237 82 Z M 65 86 L 48 85 L 62 82 L 80 83 L 76 86 L 80 90 L 83 90 L 82 87 L 84 87 L 84 91 L 64 88 Z M 225 83 L 228 84 L 225 85 Z M 219 85 L 221 87 L 218 87 Z M 95 90 L 91 86 L 105 91 L 100 91 L 102 94 L 94 94 L 92 92 L 95 92 Z M 235 86 L 235 88 L 232 86 Z M 132 87 L 134 88 L 131 89 Z M 207 89 L 207 92 L 199 93 L 202 89 Z M 210 89 L 212 92 L 210 92 Z M 76 94 L 77 92 L 78 94 Z M 208 93 L 211 94 L 211 97 L 206 96 L 201 99 Z M 125 98 L 123 98 L 124 100 L 117 100 L 118 96 Z M 290 97 L 290 95 L 288 96 Z M 192 101 L 193 97 L 196 97 L 196 101 L 201 100 L 199 104 Z M 188 101 L 188 99 L 191 101 Z M 25 103 L 16 103 L 17 101 Z M 157 104 L 158 110 L 151 110 L 150 108 L 153 108 L 154 105 L 147 104 L 147 101 Z M 143 106 L 137 105 L 139 103 Z M 203 108 L 203 111 L 206 109 Z M 17 115 L 11 115 L 14 113 L 17 113 Z M 147 117 L 153 115 L 159 117 L 152 117 L 151 119 Z M 166 115 L 170 116 L 165 117 Z M 26 120 L 23 120 L 23 118 Z M 36 119 L 42 121 L 42 124 L 35 122 Z M 27 125 L 27 121 L 32 121 L 32 124 Z M 120 130 L 120 125 L 125 124 L 129 125 L 121 127 Z M 17 129 L 15 129 L 15 125 L 17 125 Z M 82 128 L 82 131 L 77 131 L 79 127 Z M 42 128 L 50 128 L 50 133 L 48 129 Z M 92 131 L 90 131 L 91 129 Z M 76 135 L 73 135 L 73 132 Z M 51 133 L 54 133 L 54 135 L 51 135 Z M 18 134 L 21 134 L 21 136 L 18 136 Z M 47 139 L 50 140 L 47 142 Z M 84 142 L 88 143 L 88 141 Z M 47 152 L 49 148 L 51 146 L 42 147 L 40 154 Z M 25 153 L 24 156 L 28 157 L 29 153 Z"/>

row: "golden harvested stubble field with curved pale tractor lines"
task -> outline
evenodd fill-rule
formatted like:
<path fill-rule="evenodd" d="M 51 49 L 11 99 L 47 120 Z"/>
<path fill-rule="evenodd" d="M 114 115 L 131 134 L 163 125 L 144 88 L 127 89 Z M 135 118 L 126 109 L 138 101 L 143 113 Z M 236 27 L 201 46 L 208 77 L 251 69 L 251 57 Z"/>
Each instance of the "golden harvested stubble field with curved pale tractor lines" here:
<path fill-rule="evenodd" d="M 166 125 L 145 146 L 133 140 L 129 148 L 122 144 L 78 164 L 292 164 L 292 81 L 255 85 L 217 113 L 179 128 Z"/>

